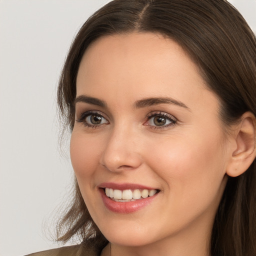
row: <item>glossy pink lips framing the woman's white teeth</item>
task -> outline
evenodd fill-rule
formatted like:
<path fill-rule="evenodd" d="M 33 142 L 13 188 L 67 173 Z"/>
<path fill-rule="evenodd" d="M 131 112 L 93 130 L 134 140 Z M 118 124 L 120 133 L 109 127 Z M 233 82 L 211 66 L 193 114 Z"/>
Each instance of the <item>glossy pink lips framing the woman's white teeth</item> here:
<path fill-rule="evenodd" d="M 137 199 L 137 200 L 129 201 L 129 202 L 116 202 L 116 201 L 111 200 L 108 196 L 106 196 L 105 191 L 103 189 L 104 187 L 120 189 L 120 190 L 136 189 L 136 188 L 137 189 L 154 189 L 154 188 L 150 188 L 150 187 L 147 187 L 144 185 L 129 184 L 129 183 L 122 183 L 122 184 L 109 183 L 109 182 L 101 183 L 99 185 L 99 191 L 100 191 L 102 201 L 108 210 L 116 212 L 116 213 L 131 213 L 131 212 L 138 211 L 139 209 L 150 204 L 158 194 L 158 193 L 156 193 L 153 196 L 149 196 L 147 198 Z"/>

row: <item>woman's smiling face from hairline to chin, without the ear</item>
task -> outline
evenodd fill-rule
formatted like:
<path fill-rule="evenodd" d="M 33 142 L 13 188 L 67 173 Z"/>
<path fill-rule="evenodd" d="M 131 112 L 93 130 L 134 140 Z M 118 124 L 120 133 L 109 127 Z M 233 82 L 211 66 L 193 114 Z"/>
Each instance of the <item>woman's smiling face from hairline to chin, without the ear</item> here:
<path fill-rule="evenodd" d="M 159 34 L 102 37 L 76 87 L 71 161 L 105 237 L 128 246 L 207 240 L 231 146 L 188 55 Z"/>

